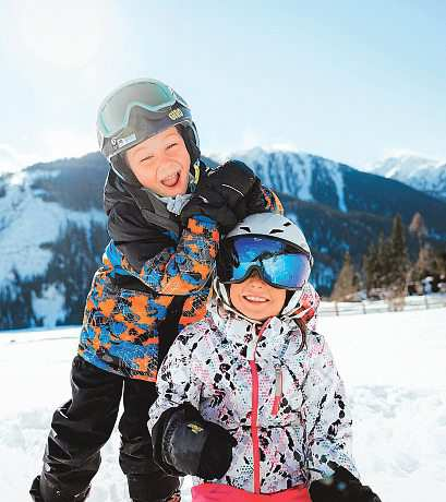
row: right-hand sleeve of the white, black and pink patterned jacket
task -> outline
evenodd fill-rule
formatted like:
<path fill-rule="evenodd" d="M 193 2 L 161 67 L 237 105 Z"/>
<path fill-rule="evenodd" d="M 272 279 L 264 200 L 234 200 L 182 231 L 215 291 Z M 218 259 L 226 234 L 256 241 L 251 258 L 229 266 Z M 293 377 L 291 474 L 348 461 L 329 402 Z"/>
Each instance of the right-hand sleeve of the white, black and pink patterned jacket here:
<path fill-rule="evenodd" d="M 358 476 L 351 456 L 350 408 L 332 352 L 325 338 L 315 332 L 308 337 L 308 350 L 311 362 L 303 383 L 302 415 L 310 481 L 333 474 L 329 461 Z"/>

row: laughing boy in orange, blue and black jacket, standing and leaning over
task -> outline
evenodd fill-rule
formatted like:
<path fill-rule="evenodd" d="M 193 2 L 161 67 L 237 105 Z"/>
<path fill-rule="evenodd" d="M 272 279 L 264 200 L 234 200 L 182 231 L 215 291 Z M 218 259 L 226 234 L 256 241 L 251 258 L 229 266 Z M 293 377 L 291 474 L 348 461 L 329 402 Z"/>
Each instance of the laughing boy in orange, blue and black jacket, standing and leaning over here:
<path fill-rule="evenodd" d="M 242 163 L 208 171 L 189 106 L 154 80 L 124 84 L 97 120 L 111 169 L 105 208 L 111 241 L 93 278 L 71 373 L 56 410 L 35 501 L 81 502 L 123 396 L 120 466 L 134 502 L 179 500 L 178 477 L 153 462 L 147 415 L 158 364 L 179 326 L 205 314 L 220 234 L 280 203 Z"/>

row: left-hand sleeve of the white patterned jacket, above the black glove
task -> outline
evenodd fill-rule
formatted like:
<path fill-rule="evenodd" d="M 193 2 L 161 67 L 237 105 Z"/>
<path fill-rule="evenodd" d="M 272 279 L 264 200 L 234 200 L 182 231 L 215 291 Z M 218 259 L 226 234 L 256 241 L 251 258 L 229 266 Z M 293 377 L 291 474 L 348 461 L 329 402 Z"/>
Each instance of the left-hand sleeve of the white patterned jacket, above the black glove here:
<path fill-rule="evenodd" d="M 150 432 L 162 413 L 169 408 L 190 403 L 200 410 L 202 382 L 194 371 L 192 360 L 197 340 L 191 327 L 186 327 L 170 347 L 156 381 L 158 398 L 149 410 L 148 429 Z"/>

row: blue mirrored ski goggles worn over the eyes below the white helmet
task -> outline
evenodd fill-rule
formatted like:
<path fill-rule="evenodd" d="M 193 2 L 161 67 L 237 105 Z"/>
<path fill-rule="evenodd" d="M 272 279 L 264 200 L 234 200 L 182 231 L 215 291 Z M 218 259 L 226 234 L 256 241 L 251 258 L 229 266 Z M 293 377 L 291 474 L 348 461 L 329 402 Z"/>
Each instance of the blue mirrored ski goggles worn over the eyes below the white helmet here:
<path fill-rule="evenodd" d="M 241 283 L 253 271 L 277 288 L 301 289 L 309 280 L 311 255 L 282 240 L 241 236 L 222 243 L 217 274 L 224 284 Z"/>

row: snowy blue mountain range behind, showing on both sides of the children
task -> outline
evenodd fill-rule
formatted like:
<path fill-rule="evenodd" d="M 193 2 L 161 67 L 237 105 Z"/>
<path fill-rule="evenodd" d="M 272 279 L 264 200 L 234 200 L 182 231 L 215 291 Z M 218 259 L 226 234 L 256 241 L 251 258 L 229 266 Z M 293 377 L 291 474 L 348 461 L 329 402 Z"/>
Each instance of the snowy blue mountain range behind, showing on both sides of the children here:
<path fill-rule="evenodd" d="M 312 280 L 323 295 L 345 252 L 360 265 L 397 213 L 409 225 L 420 212 L 429 239 L 446 242 L 446 202 L 398 181 L 310 154 L 255 148 L 232 158 L 251 166 L 303 228 L 315 256 Z M 81 321 L 108 240 L 101 201 L 107 170 L 94 153 L 0 175 L 0 328 Z"/>

